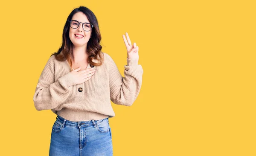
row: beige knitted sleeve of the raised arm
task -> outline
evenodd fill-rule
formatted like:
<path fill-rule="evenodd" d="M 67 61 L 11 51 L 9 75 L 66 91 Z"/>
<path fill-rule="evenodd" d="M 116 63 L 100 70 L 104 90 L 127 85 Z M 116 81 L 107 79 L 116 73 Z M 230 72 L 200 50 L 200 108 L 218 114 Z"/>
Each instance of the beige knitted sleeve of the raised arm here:
<path fill-rule="evenodd" d="M 109 62 L 109 84 L 111 101 L 117 105 L 131 106 L 139 95 L 142 85 L 143 68 L 138 65 L 139 59 L 127 58 L 124 76 L 120 74 L 116 63 L 107 55 Z"/>

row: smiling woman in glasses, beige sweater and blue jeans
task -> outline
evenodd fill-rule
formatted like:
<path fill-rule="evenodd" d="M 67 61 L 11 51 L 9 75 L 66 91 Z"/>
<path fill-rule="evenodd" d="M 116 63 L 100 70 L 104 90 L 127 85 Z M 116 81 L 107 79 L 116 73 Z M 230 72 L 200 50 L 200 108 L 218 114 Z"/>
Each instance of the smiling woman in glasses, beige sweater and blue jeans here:
<path fill-rule="evenodd" d="M 98 21 L 81 6 L 67 17 L 62 46 L 45 65 L 33 97 L 38 111 L 51 109 L 50 156 L 111 156 L 111 102 L 131 106 L 137 98 L 143 69 L 136 43 L 122 35 L 127 65 L 122 77 L 112 58 L 101 51 Z"/>

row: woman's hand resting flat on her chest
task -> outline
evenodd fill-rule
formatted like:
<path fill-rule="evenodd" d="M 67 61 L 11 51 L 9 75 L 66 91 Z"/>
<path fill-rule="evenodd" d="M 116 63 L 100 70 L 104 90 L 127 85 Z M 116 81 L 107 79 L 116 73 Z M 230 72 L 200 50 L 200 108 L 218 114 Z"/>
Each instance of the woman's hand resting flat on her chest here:
<path fill-rule="evenodd" d="M 70 73 L 73 74 L 74 78 L 76 79 L 76 84 L 81 84 L 91 79 L 95 73 L 95 68 L 88 68 L 82 71 L 80 71 L 80 69 L 81 66 L 79 68 L 73 69 L 73 71 L 70 71 Z"/>

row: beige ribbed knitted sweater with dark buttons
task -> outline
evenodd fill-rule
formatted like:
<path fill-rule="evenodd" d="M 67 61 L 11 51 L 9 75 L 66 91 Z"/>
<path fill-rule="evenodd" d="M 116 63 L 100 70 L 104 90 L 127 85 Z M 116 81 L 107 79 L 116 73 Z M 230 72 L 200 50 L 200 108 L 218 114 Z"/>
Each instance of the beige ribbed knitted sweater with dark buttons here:
<path fill-rule="evenodd" d="M 98 120 L 114 117 L 111 101 L 131 106 L 142 85 L 143 68 L 138 60 L 129 60 L 120 74 L 113 59 L 106 53 L 104 62 L 84 83 L 76 84 L 67 60 L 61 62 L 52 55 L 47 61 L 33 97 L 38 111 L 49 110 L 70 121 Z M 94 62 L 94 60 L 93 60 Z M 96 61 L 97 62 L 97 61 Z"/>

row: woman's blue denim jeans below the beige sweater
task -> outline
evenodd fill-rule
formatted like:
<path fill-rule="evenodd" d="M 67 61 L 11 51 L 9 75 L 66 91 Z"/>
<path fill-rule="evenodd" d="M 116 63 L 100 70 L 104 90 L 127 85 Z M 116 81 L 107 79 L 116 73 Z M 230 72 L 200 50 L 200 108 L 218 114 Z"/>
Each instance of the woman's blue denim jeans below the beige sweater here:
<path fill-rule="evenodd" d="M 73 122 L 57 116 L 49 156 L 113 156 L 108 118 Z"/>

